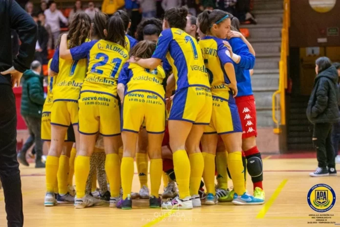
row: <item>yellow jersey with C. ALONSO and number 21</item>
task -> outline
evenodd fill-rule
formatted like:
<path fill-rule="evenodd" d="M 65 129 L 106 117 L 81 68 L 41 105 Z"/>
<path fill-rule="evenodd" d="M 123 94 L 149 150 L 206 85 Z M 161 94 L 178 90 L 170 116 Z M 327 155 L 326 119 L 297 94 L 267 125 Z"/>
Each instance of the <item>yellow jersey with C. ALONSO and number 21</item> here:
<path fill-rule="evenodd" d="M 129 57 L 123 46 L 106 40 L 94 40 L 70 51 L 73 61 L 88 61 L 81 92 L 106 93 L 117 97 L 118 75 Z"/>

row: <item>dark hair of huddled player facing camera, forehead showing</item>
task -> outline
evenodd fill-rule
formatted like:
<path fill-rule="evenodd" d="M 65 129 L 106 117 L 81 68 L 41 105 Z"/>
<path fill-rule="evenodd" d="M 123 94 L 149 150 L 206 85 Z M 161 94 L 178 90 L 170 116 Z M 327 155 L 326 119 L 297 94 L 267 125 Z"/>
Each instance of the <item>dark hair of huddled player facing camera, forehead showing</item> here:
<path fill-rule="evenodd" d="M 143 40 L 144 35 L 160 35 L 162 32 L 162 21 L 156 18 L 148 19 L 138 24 L 136 39 Z"/>

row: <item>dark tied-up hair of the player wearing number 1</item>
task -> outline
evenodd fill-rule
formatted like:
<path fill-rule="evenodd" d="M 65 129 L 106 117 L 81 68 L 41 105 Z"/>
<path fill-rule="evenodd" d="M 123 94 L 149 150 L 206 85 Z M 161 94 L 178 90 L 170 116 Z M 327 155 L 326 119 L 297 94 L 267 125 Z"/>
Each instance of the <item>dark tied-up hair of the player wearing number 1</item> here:
<path fill-rule="evenodd" d="M 169 23 L 170 27 L 184 30 L 187 26 L 188 8 L 186 6 L 173 7 L 165 11 L 164 20 Z"/>

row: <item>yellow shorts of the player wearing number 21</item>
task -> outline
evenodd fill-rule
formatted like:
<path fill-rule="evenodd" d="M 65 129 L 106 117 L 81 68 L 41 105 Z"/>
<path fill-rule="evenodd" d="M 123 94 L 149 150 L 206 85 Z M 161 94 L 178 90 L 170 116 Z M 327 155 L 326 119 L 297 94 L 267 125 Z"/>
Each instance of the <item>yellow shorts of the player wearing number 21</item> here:
<path fill-rule="evenodd" d="M 118 100 L 107 93 L 83 92 L 79 99 L 79 133 L 120 135 Z"/>

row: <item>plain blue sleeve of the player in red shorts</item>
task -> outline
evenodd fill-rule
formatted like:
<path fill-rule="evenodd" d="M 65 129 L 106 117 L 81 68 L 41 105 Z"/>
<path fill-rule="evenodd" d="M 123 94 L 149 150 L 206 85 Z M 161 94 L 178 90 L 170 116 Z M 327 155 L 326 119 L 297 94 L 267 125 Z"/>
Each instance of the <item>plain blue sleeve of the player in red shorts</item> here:
<path fill-rule="evenodd" d="M 229 40 L 233 48 L 233 52 L 241 57 L 238 65 L 244 69 L 252 69 L 255 66 L 255 56 L 249 52 L 248 46 L 242 41 L 241 38 L 232 38 Z"/>

